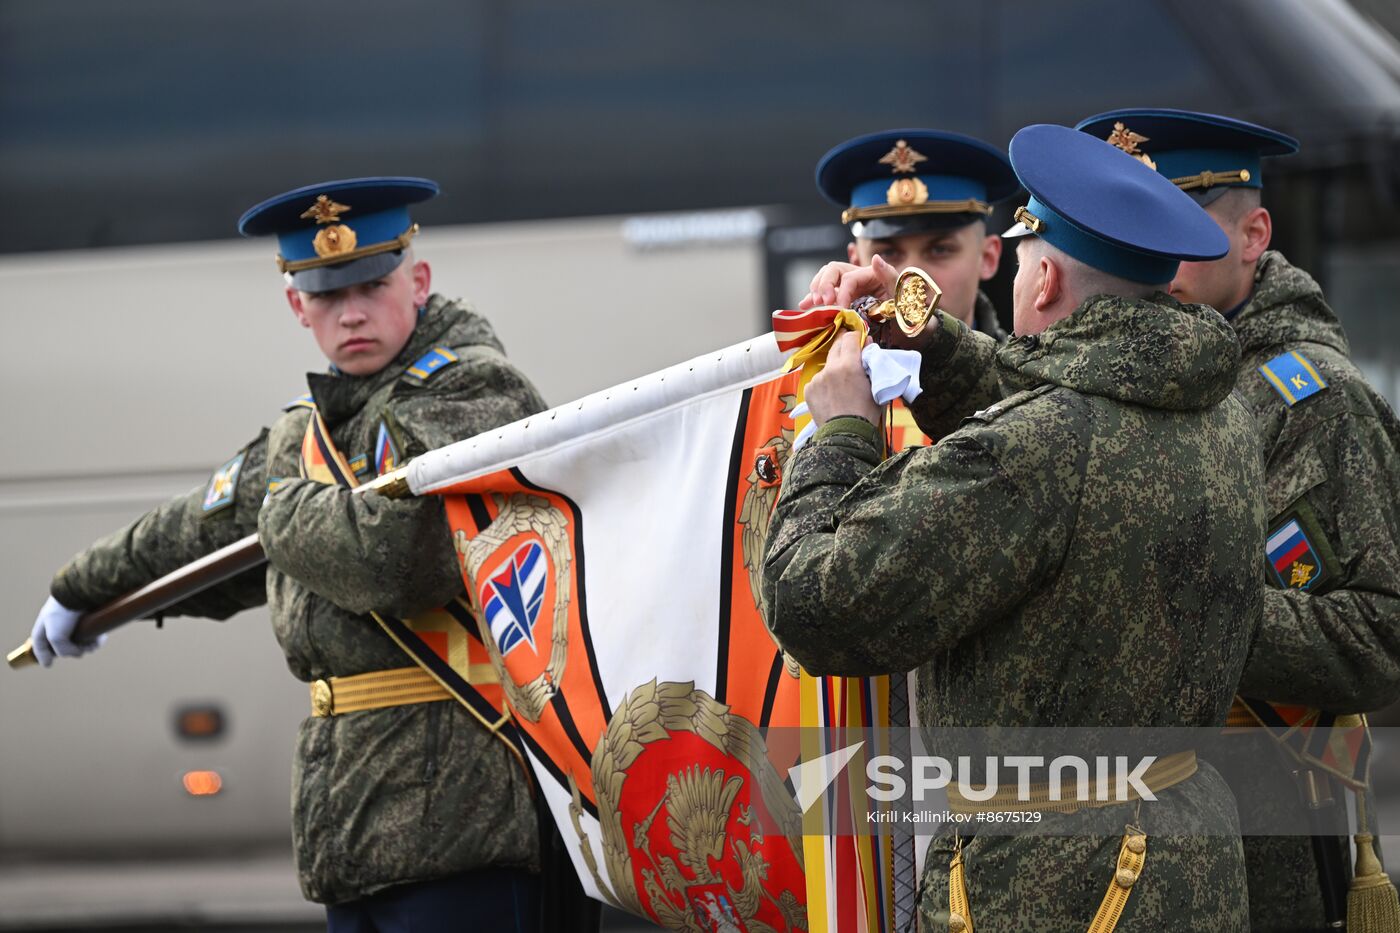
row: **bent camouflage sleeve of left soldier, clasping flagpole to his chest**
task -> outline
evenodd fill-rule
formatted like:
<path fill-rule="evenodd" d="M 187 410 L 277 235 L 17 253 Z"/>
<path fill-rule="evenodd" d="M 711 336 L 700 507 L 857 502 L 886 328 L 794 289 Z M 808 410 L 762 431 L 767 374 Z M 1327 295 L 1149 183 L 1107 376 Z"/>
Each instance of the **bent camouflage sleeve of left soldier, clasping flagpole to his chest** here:
<path fill-rule="evenodd" d="M 431 382 L 389 401 L 416 457 L 543 409 L 535 387 L 494 352 L 466 349 Z M 267 559 L 350 612 L 409 616 L 462 591 L 447 511 L 437 496 L 384 499 L 293 481 L 263 506 L 258 534 Z"/>

